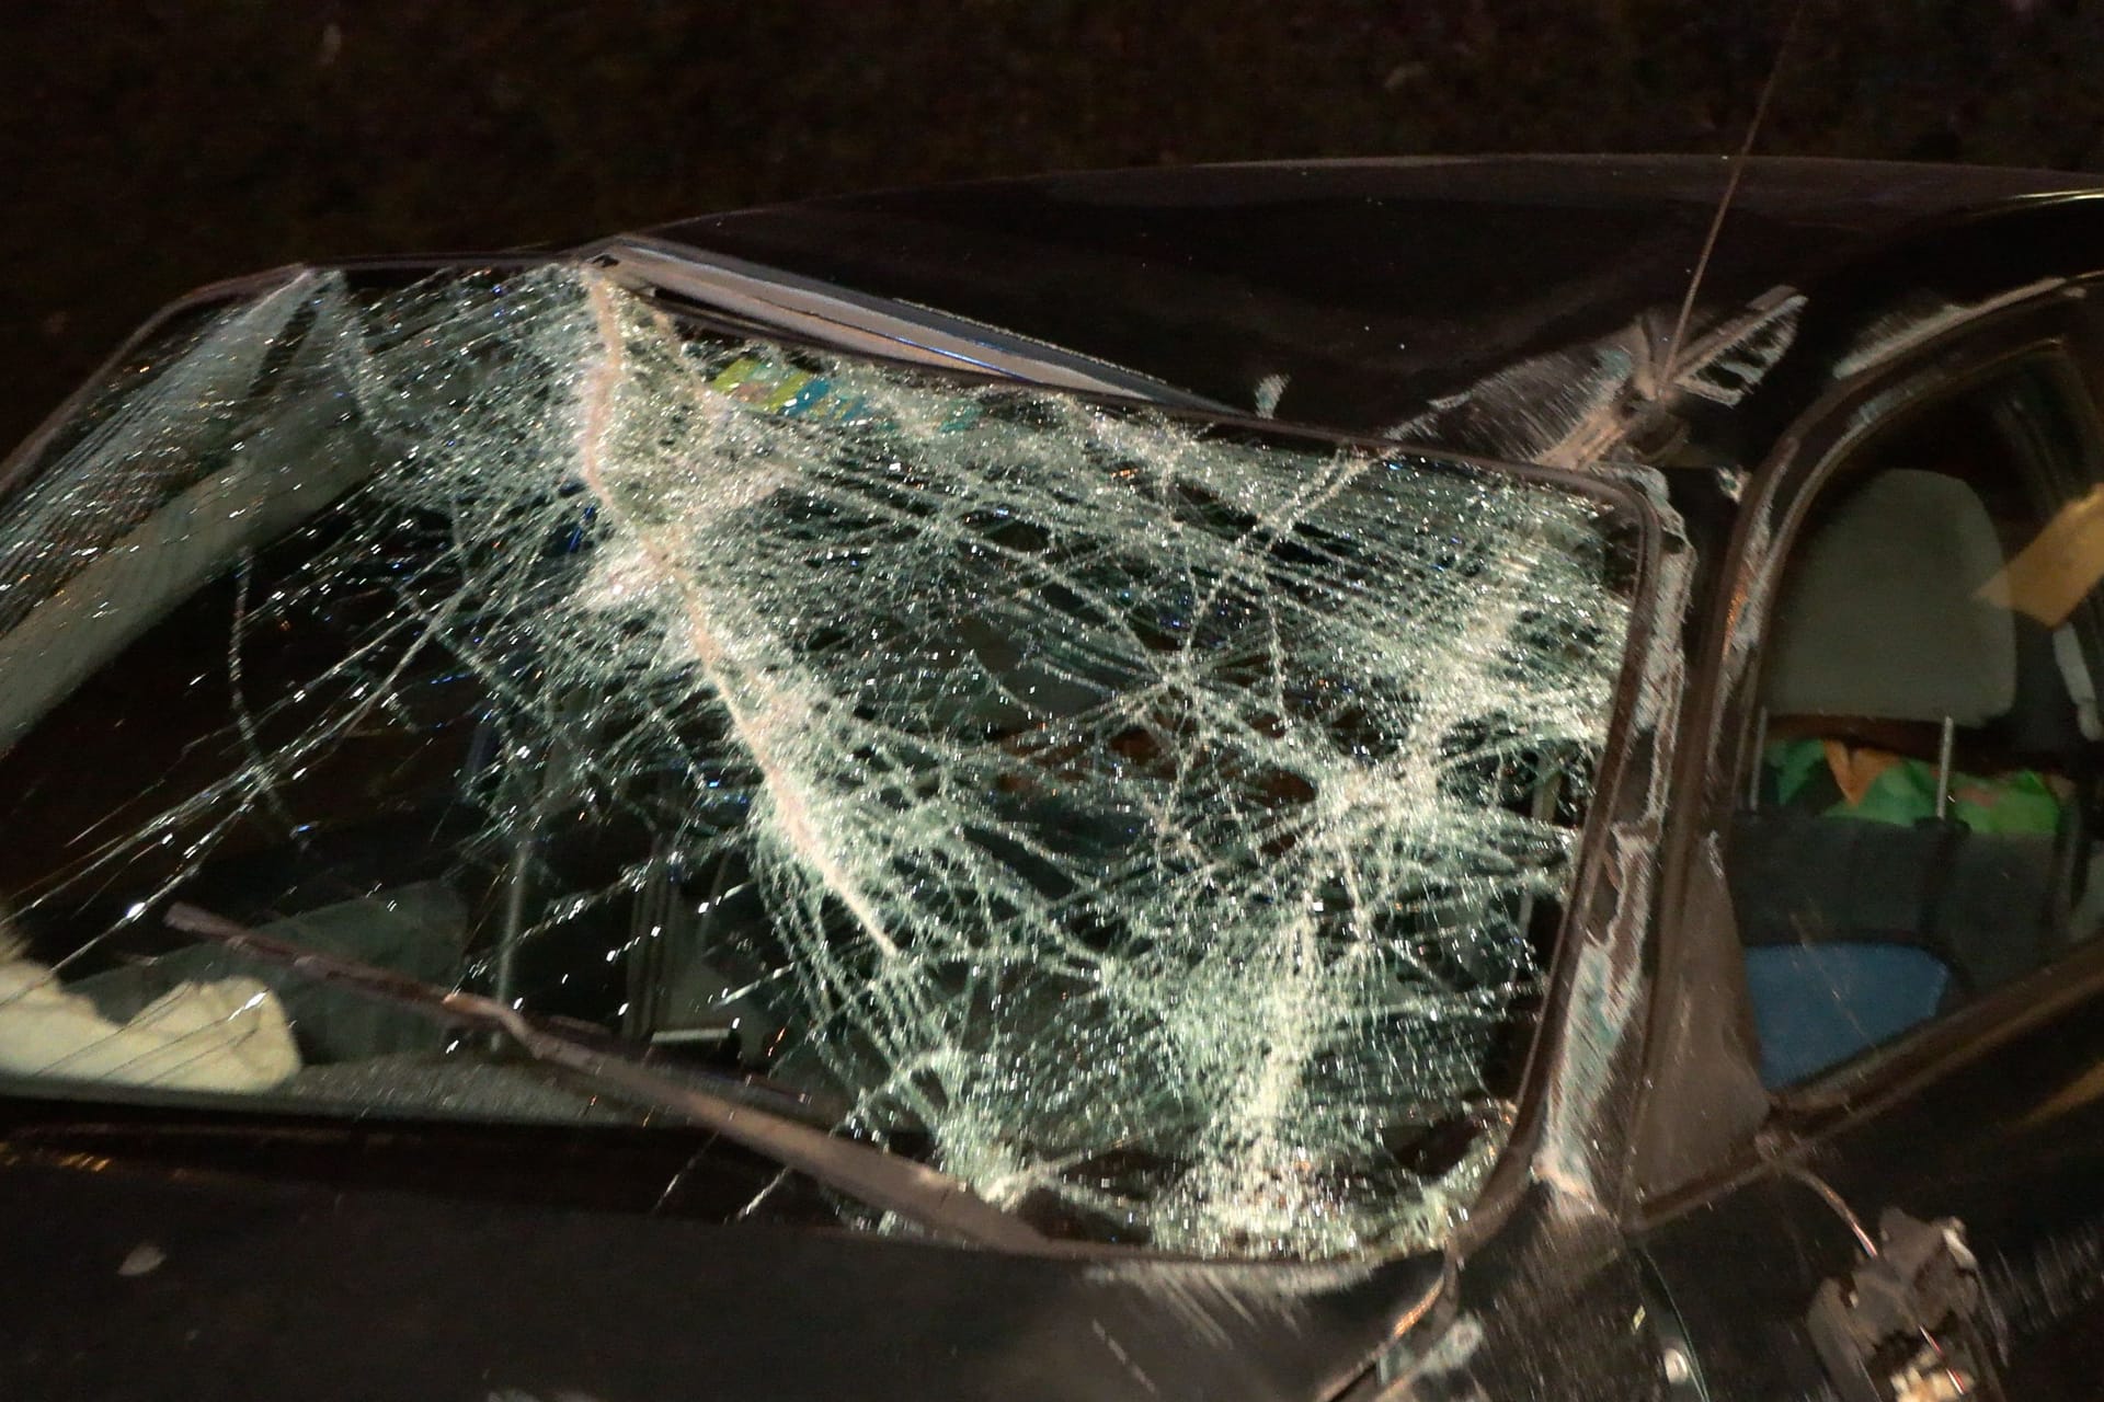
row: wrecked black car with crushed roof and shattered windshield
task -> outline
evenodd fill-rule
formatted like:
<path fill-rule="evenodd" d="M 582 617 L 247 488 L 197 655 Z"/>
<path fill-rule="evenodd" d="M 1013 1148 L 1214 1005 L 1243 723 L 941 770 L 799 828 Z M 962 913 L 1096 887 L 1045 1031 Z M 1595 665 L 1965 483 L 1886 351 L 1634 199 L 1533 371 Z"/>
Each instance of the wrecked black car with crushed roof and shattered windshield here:
<path fill-rule="evenodd" d="M 0 467 L 0 1394 L 2098 1396 L 2100 277 L 1511 158 L 187 298 Z"/>

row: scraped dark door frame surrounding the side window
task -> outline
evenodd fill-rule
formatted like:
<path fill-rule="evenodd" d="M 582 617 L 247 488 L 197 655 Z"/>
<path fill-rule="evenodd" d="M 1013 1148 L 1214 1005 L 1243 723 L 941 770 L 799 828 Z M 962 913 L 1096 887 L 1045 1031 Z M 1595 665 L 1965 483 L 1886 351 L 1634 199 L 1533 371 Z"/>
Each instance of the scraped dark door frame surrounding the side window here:
<path fill-rule="evenodd" d="M 1849 1209 L 1862 1215 L 1883 1207 L 1847 1204 L 1822 1192 L 1818 1164 L 1837 1135 L 2064 1013 L 2070 1001 L 2104 996 L 2104 942 L 2098 942 L 1803 1089 L 1761 1091 L 1759 1122 L 1746 1122 L 1757 1043 L 1723 883 L 1723 843 L 1757 744 L 1751 681 L 1761 633 L 1797 528 L 1870 435 L 1917 406 L 2024 362 L 2056 364 L 2091 452 L 2104 446 L 2098 414 L 2104 326 L 2083 296 L 2079 282 L 2032 284 L 1971 313 L 1946 315 L 1921 334 L 1887 334 L 1883 349 L 1868 343 L 1854 364 L 1837 362 L 1841 370 L 1824 393 L 1778 435 L 1744 488 L 1683 717 L 1675 780 L 1681 818 L 1660 853 L 1658 965 L 1626 1198 L 1626 1221 L 1639 1240 L 1675 1221 L 1713 1215 L 1723 1200 L 1746 1192 L 1763 1194 L 1772 1211 L 1788 1215 L 1845 1219 Z M 1717 1106 L 1725 1112 L 1717 1114 Z M 1713 1133 L 1690 1135 L 1690 1118 L 1711 1122 Z M 1858 1232 L 1862 1219 L 1841 1225 Z M 1809 1261 L 1803 1270 L 1809 1274 L 1791 1284 L 1803 1286 L 1809 1301 L 1826 1270 Z"/>

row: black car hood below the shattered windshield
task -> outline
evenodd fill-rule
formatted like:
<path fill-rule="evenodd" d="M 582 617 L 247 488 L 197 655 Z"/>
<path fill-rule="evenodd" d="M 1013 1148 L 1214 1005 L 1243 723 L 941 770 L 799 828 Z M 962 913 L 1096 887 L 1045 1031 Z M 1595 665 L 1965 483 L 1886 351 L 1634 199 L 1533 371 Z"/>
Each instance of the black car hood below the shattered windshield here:
<path fill-rule="evenodd" d="M 1321 1398 L 1441 1278 L 1020 1257 L 93 1162 L 6 1175 L 23 1396 Z M 63 1267 L 59 1267 L 63 1263 Z"/>

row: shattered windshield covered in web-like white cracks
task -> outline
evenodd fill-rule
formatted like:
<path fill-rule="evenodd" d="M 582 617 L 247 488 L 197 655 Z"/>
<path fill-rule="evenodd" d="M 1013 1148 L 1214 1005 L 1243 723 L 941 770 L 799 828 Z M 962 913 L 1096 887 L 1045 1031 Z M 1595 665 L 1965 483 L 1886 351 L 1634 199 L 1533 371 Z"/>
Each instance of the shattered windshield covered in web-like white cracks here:
<path fill-rule="evenodd" d="M 1502 1146 L 1628 628 L 1595 496 L 576 265 L 191 313 L 29 469 L 17 1087 L 648 1118 L 181 902 L 1096 1240 L 1420 1249 Z"/>

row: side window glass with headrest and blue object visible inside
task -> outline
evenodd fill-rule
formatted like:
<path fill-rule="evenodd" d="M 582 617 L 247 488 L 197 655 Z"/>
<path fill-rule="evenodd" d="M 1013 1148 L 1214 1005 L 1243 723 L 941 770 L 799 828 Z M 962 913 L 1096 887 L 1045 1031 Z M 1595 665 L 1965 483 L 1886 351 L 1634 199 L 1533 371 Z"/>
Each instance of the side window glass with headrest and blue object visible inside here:
<path fill-rule="evenodd" d="M 1835 469 L 1788 547 L 1729 837 L 1772 1089 L 2104 929 L 2104 481 L 2056 362 Z"/>

